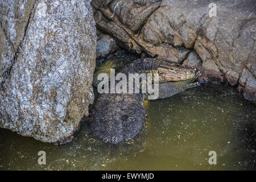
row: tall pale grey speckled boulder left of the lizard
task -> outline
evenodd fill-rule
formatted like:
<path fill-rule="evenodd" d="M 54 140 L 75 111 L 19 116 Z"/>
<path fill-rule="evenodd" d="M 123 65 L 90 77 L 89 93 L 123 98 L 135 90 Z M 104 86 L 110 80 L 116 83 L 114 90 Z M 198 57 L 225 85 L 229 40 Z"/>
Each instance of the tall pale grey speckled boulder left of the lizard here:
<path fill-rule="evenodd" d="M 0 127 L 67 142 L 93 101 L 90 1 L 0 1 Z"/>

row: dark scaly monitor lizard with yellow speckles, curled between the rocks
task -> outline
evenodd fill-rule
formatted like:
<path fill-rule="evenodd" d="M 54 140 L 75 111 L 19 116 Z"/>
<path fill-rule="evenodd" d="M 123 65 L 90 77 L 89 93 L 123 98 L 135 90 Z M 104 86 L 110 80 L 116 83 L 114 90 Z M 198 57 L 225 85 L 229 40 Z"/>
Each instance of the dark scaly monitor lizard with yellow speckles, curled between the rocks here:
<path fill-rule="evenodd" d="M 109 69 L 100 69 L 94 74 L 93 85 L 97 86 L 99 73 L 110 75 Z M 187 88 L 197 86 L 192 83 L 199 72 L 182 68 L 179 64 L 158 59 L 138 59 L 126 65 L 121 71 L 129 73 L 158 73 L 159 97 L 171 97 Z M 94 135 L 106 143 L 117 144 L 133 139 L 141 131 L 146 121 L 143 93 L 102 93 L 90 109 L 90 129 Z"/>

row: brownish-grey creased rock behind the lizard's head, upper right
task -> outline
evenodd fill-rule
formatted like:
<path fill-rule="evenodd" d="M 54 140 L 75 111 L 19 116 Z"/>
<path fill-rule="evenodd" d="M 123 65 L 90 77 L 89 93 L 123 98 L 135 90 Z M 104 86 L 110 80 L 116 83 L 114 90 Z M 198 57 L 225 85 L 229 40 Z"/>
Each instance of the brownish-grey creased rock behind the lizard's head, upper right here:
<path fill-rule="evenodd" d="M 255 100 L 256 75 L 250 71 L 256 64 L 255 1 L 93 0 L 92 5 L 97 27 L 127 51 L 183 63 L 184 51 L 193 49 L 205 79 L 238 85 Z M 245 68 L 251 75 L 243 84 Z"/>

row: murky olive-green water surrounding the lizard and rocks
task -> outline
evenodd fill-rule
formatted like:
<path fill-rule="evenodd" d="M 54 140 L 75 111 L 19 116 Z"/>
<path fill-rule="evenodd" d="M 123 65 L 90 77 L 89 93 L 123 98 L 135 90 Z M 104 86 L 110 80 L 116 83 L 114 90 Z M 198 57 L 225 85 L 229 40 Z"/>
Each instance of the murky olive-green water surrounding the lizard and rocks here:
<path fill-rule="evenodd" d="M 115 64 L 119 58 L 111 59 Z M 109 146 L 94 140 L 86 123 L 73 142 L 61 146 L 0 129 L 0 169 L 255 169 L 256 106 L 232 87 L 203 84 L 144 105 L 147 122 L 134 144 Z M 46 165 L 38 164 L 39 151 L 46 151 Z M 216 151 L 216 165 L 208 163 L 209 151 Z"/>

